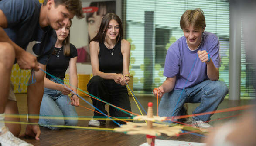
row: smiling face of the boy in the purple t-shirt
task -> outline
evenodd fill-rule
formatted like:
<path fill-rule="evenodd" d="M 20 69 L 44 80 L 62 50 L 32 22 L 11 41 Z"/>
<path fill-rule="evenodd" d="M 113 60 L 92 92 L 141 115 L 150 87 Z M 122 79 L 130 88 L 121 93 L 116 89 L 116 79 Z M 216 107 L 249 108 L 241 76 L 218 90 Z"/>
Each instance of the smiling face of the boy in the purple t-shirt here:
<path fill-rule="evenodd" d="M 187 44 L 191 50 L 195 50 L 201 43 L 202 33 L 205 28 L 194 28 L 189 25 L 186 29 L 183 29 L 184 36 L 187 40 Z"/>

